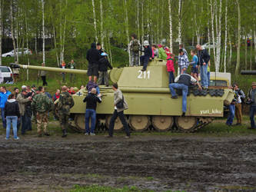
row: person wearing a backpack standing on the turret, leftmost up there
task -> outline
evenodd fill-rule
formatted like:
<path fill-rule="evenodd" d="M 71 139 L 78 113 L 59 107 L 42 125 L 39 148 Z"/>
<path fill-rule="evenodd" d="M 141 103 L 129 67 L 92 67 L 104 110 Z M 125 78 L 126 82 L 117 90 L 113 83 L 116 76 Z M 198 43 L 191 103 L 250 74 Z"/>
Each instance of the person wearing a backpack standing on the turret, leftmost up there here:
<path fill-rule="evenodd" d="M 131 48 L 131 66 L 138 66 L 138 56 L 139 56 L 139 49 L 140 49 L 140 42 L 137 39 L 137 35 L 131 35 L 130 41 L 130 48 Z"/>

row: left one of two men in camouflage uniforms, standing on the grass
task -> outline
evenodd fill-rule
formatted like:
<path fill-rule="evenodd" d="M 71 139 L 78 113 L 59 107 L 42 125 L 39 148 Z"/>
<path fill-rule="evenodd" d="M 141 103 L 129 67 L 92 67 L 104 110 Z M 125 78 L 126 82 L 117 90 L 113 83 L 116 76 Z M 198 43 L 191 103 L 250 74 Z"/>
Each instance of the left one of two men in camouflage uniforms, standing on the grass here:
<path fill-rule="evenodd" d="M 43 87 L 38 87 L 39 93 L 35 95 L 32 101 L 32 109 L 36 111 L 36 121 L 38 128 L 38 137 L 42 137 L 42 127 L 44 134 L 49 136 L 47 131 L 48 111 L 52 109 L 52 100 L 44 93 Z"/>

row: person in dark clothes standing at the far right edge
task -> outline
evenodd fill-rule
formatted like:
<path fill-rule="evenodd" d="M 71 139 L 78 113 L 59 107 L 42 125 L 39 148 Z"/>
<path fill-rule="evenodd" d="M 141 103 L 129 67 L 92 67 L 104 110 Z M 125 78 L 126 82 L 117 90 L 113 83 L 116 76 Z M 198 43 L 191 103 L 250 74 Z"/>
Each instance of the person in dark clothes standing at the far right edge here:
<path fill-rule="evenodd" d="M 256 129 L 255 121 L 254 121 L 254 114 L 256 113 L 256 82 L 252 82 L 251 84 L 251 89 L 248 92 L 248 103 L 251 104 L 251 107 L 250 107 L 251 127 L 248 127 L 248 129 Z"/>

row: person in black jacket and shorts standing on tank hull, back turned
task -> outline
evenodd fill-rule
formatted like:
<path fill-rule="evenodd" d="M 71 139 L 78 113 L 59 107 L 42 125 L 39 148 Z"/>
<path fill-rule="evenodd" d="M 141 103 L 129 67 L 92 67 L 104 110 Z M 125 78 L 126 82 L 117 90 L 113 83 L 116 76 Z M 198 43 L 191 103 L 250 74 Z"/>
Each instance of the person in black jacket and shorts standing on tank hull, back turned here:
<path fill-rule="evenodd" d="M 87 51 L 86 59 L 88 60 L 88 71 L 89 81 L 92 80 L 97 83 L 98 78 L 98 60 L 100 58 L 99 51 L 96 49 L 96 43 L 91 43 L 91 48 Z"/>

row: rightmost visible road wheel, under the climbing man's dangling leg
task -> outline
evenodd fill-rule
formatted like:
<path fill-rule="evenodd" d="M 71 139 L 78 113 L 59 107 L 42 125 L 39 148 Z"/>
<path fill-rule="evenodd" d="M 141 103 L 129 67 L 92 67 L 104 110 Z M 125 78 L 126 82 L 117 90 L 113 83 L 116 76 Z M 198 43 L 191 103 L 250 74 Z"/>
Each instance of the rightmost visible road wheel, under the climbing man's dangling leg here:
<path fill-rule="evenodd" d="M 192 132 L 194 131 L 194 127 L 198 123 L 198 118 L 196 117 L 176 117 L 175 118 L 176 125 L 179 130 L 183 132 Z"/>

